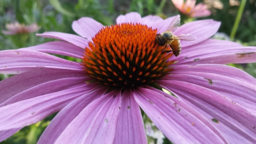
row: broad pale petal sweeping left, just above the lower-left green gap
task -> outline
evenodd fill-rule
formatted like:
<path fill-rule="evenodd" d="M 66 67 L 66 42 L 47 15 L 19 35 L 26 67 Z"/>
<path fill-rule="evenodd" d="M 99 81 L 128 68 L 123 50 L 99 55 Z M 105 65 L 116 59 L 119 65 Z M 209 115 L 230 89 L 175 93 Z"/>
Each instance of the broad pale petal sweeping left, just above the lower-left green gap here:
<path fill-rule="evenodd" d="M 36 98 L 23 100 L 0 108 L 0 131 L 10 130 L 41 121 L 81 95 L 90 92 L 95 85 L 80 86 Z"/>

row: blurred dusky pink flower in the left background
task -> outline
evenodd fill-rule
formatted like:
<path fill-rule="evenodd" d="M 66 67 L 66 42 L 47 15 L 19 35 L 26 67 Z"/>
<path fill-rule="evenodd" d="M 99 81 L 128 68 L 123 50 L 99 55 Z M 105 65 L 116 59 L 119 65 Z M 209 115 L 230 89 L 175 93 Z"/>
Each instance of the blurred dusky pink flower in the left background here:
<path fill-rule="evenodd" d="M 2 30 L 2 33 L 5 35 L 30 34 L 39 30 L 40 28 L 41 27 L 37 26 L 36 23 L 33 23 L 30 26 L 26 26 L 24 24 L 15 22 L 15 23 L 7 24 L 6 25 L 7 30 Z"/>

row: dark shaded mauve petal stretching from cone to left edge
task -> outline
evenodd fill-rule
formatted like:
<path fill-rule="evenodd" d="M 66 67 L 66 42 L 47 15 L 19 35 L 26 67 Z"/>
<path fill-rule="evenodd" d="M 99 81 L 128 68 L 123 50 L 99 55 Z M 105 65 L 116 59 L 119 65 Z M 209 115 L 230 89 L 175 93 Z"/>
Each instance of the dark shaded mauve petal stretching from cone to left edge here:
<path fill-rule="evenodd" d="M 61 78 L 83 77 L 83 71 L 67 69 L 35 69 L 0 81 L 0 103 L 13 95 L 31 89 L 34 86 Z M 17 83 L 18 82 L 18 83 Z"/>

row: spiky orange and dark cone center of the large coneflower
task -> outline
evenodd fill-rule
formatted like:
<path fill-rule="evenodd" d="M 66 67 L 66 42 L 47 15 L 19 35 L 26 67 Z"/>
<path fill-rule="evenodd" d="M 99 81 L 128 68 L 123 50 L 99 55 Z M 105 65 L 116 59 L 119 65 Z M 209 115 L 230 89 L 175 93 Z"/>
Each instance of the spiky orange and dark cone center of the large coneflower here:
<path fill-rule="evenodd" d="M 102 28 L 86 47 L 82 65 L 95 83 L 110 89 L 134 89 L 167 75 L 174 61 L 155 43 L 157 29 L 139 23 Z M 169 49 L 169 47 L 167 48 Z"/>

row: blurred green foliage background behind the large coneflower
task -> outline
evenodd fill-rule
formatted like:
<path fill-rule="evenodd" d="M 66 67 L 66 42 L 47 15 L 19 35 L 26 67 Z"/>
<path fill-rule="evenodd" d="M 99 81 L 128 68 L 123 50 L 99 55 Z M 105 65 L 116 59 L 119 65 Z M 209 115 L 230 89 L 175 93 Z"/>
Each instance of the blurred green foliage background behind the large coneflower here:
<path fill-rule="evenodd" d="M 212 14 L 209 17 L 198 18 L 214 19 L 221 21 L 219 34 L 214 38 L 229 39 L 231 30 L 237 16 L 241 1 L 238 0 L 198 0 L 197 3 L 205 3 Z M 45 31 L 60 31 L 75 34 L 71 29 L 71 23 L 81 17 L 91 17 L 103 25 L 115 23 L 120 14 L 135 11 L 143 16 L 153 14 L 162 18 L 168 18 L 181 14 L 175 9 L 171 0 L 1 0 L 0 1 L 0 29 L 5 30 L 7 23 L 19 22 L 25 25 L 37 23 L 41 27 L 36 33 Z M 196 20 L 181 14 L 181 23 Z M 256 46 L 256 0 L 248 0 L 245 3 L 239 27 L 235 35 L 235 41 L 245 46 Z M 23 37 L 23 38 L 22 38 Z M 27 38 L 28 37 L 28 38 Z M 15 38 L 0 33 L 0 50 L 18 49 L 20 47 L 33 46 L 49 41 L 51 38 L 36 37 L 35 33 Z M 59 56 L 59 55 L 58 55 Z M 61 57 L 61 56 L 59 56 Z M 67 58 L 67 57 L 64 57 Z M 67 58 L 70 60 L 70 58 Z M 245 70 L 256 77 L 256 63 L 230 64 Z M 0 80 L 8 77 L 0 75 Z M 34 125 L 26 126 L 3 143 L 36 143 L 45 127 L 50 123 L 55 114 Z M 164 139 L 164 143 L 170 143 Z"/>

